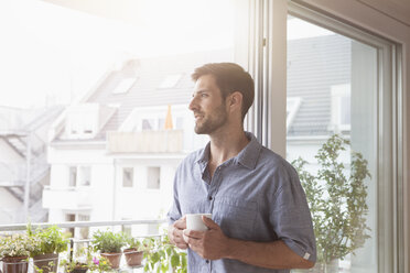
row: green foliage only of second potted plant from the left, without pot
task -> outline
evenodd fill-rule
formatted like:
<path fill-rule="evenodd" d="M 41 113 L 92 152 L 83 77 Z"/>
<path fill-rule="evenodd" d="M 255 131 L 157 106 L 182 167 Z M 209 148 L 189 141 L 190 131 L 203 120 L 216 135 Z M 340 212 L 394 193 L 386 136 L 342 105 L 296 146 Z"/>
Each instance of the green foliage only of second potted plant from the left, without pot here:
<path fill-rule="evenodd" d="M 69 242 L 66 236 L 56 226 L 32 230 L 31 225 L 29 225 L 28 234 L 33 238 L 35 242 L 31 251 L 31 256 L 64 252 L 67 250 Z"/>

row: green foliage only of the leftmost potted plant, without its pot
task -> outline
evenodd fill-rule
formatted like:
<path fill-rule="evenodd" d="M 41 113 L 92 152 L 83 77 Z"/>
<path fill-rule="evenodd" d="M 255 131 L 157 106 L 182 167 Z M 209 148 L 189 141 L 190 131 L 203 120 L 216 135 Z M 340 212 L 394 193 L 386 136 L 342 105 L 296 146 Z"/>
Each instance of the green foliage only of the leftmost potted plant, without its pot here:
<path fill-rule="evenodd" d="M 26 234 L 0 238 L 0 258 L 29 256 L 34 249 L 34 240 Z"/>

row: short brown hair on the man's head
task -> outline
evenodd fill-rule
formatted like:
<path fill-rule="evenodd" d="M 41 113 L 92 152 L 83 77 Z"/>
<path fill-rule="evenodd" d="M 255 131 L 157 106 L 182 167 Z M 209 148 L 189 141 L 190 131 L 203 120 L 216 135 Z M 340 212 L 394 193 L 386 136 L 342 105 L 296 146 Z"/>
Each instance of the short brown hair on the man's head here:
<path fill-rule="evenodd" d="M 242 121 L 255 98 L 255 84 L 252 77 L 241 66 L 234 63 L 211 63 L 197 67 L 192 74 L 196 81 L 204 75 L 213 75 L 219 87 L 224 100 L 235 91 L 242 95 Z"/>

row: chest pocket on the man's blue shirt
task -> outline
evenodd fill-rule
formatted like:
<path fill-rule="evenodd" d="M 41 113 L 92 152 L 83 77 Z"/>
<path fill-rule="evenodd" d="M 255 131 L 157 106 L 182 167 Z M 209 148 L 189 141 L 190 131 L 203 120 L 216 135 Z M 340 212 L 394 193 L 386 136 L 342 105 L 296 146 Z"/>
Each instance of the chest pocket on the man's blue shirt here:
<path fill-rule="evenodd" d="M 258 204 L 235 197 L 215 198 L 213 219 L 229 238 L 251 239 Z"/>

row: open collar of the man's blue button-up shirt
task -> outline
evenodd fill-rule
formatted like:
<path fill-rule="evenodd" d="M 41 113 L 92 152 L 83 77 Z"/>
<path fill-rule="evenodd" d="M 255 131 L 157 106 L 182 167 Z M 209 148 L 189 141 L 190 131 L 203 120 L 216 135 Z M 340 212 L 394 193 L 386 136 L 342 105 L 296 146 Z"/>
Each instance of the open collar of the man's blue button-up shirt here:
<path fill-rule="evenodd" d="M 262 145 L 258 142 L 257 138 L 252 133 L 245 132 L 245 134 L 250 141 L 242 149 L 242 151 L 240 151 L 239 154 L 233 159 L 233 161 L 241 164 L 247 168 L 252 170 L 257 164 Z M 199 152 L 198 160 L 196 161 L 196 163 L 202 166 L 202 171 L 206 168 L 206 165 L 209 161 L 209 149 L 211 142 L 208 142 L 206 146 Z"/>

